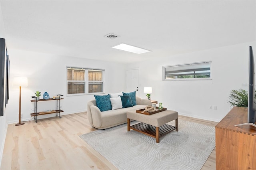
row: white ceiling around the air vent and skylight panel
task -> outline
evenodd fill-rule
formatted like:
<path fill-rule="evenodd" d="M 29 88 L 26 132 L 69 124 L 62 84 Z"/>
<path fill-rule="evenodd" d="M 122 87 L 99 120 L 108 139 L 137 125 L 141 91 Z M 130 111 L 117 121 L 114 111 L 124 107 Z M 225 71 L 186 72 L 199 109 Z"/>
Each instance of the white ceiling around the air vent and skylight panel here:
<path fill-rule="evenodd" d="M 132 63 L 256 41 L 255 0 L 0 3 L 8 49 Z M 111 48 L 119 43 L 152 52 Z"/>

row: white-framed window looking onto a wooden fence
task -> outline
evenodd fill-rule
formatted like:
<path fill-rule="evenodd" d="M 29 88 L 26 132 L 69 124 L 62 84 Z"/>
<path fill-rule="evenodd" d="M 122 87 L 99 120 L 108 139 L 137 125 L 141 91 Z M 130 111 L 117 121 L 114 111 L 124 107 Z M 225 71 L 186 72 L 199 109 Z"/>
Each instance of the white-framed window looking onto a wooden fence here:
<path fill-rule="evenodd" d="M 104 69 L 67 67 L 67 93 L 97 94 L 103 93 Z"/>

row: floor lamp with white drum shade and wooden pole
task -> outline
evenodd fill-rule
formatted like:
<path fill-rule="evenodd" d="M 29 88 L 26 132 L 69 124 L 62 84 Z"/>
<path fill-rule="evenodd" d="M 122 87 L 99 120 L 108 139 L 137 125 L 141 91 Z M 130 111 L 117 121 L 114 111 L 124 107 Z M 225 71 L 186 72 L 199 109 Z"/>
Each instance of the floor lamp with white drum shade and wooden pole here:
<path fill-rule="evenodd" d="M 13 87 L 20 87 L 20 103 L 19 103 L 19 123 L 15 124 L 15 126 L 24 125 L 24 123 L 20 122 L 20 105 L 21 105 L 21 87 L 28 87 L 28 78 L 27 77 L 14 77 L 13 79 Z"/>

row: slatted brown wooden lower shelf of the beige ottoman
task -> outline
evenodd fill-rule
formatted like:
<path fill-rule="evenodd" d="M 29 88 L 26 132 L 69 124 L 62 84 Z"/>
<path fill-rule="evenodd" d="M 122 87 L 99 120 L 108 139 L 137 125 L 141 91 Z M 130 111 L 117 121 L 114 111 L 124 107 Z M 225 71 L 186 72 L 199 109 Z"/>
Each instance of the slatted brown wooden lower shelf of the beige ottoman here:
<path fill-rule="evenodd" d="M 159 143 L 159 138 L 161 136 L 171 132 L 172 130 L 175 130 L 176 127 L 167 125 L 167 124 L 164 124 L 161 127 L 154 127 L 154 126 L 148 125 L 146 123 L 138 123 L 136 125 L 130 126 L 130 129 L 135 130 L 137 132 L 141 132 L 141 133 L 151 136 L 153 138 L 156 138 L 157 143 Z M 128 131 L 130 131 L 130 130 L 128 130 Z"/>

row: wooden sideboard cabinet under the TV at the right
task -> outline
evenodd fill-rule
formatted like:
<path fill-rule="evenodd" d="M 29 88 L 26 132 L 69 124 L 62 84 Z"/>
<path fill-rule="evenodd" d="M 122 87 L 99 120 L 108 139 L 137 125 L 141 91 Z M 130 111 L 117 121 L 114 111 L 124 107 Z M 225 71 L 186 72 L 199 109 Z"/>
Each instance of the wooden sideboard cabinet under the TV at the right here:
<path fill-rule="evenodd" d="M 234 107 L 215 127 L 216 170 L 256 170 L 256 128 L 247 122 L 247 108 Z"/>

